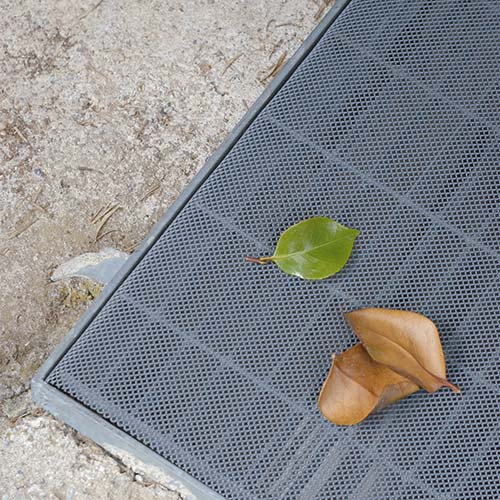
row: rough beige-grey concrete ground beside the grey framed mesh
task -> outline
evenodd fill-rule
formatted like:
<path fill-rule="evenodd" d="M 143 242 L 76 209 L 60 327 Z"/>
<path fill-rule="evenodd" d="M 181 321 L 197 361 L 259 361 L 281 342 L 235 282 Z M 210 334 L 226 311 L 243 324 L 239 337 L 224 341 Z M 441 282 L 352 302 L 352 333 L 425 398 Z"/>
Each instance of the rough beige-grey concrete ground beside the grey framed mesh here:
<path fill-rule="evenodd" d="M 31 376 L 99 292 L 49 276 L 130 252 L 325 2 L 1 0 L 0 498 L 181 498 L 31 403 Z"/>

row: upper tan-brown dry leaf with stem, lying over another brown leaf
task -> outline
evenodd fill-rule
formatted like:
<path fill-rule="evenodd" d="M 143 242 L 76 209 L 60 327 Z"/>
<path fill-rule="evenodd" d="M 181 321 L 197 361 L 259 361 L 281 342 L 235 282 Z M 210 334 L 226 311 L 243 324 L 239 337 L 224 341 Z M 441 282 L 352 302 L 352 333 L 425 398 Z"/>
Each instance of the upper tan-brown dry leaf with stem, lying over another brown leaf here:
<path fill-rule="evenodd" d="M 375 361 L 410 379 L 428 392 L 449 387 L 436 325 L 422 314 L 369 308 L 345 315 L 347 322 Z"/>

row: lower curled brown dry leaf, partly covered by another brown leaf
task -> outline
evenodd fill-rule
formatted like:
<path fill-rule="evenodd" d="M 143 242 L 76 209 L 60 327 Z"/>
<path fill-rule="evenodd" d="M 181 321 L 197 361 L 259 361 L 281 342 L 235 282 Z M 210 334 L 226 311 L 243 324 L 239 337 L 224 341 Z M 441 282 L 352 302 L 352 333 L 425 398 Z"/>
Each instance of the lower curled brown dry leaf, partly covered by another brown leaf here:
<path fill-rule="evenodd" d="M 416 391 L 418 385 L 374 361 L 362 344 L 333 355 L 318 405 L 337 425 L 354 425 Z"/>

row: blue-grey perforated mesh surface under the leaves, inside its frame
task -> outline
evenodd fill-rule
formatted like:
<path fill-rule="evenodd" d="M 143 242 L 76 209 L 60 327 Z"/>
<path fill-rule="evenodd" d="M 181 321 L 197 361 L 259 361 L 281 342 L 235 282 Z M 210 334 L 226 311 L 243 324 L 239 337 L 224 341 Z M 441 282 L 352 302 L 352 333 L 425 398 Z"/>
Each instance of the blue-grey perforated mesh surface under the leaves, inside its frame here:
<path fill-rule="evenodd" d="M 498 499 L 499 53 L 500 2 L 352 0 L 48 382 L 229 499 Z M 319 214 L 339 275 L 244 262 Z M 463 395 L 323 420 L 362 306 L 431 317 Z"/>

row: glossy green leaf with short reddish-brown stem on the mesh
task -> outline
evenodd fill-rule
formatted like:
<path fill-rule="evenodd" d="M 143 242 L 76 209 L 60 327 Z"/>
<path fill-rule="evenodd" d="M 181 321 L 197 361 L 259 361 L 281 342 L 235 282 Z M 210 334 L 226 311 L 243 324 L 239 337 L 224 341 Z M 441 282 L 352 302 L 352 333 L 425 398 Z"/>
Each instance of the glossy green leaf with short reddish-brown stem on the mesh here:
<path fill-rule="evenodd" d="M 274 262 L 287 274 L 320 280 L 338 273 L 347 263 L 357 229 L 329 217 L 312 217 L 289 227 L 280 237 L 271 257 L 247 257 L 249 262 Z"/>

